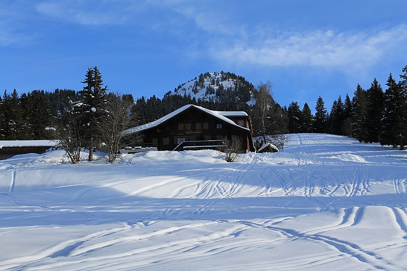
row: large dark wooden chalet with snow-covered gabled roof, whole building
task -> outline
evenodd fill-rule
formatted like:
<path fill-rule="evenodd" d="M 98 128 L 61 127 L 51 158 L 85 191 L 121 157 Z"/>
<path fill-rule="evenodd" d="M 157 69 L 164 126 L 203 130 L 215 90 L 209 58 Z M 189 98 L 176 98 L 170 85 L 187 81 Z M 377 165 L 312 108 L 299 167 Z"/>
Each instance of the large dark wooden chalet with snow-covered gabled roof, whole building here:
<path fill-rule="evenodd" d="M 140 133 L 141 147 L 158 150 L 216 148 L 240 138 L 242 152 L 254 152 L 250 117 L 243 111 L 213 111 L 185 105 L 154 122 L 130 128 L 126 135 Z"/>

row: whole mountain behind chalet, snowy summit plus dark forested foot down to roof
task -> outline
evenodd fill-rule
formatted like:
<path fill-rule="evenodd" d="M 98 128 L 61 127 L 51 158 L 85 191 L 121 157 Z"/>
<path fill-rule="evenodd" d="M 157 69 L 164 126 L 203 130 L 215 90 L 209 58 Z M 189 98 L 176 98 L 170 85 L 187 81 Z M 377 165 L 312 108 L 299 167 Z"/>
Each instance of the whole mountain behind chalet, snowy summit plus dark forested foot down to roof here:
<path fill-rule="evenodd" d="M 155 95 L 137 99 L 133 112 L 137 113 L 140 124 L 152 122 L 187 104 L 210 110 L 249 113 L 250 106 L 255 104 L 254 93 L 254 85 L 243 76 L 223 71 L 206 72 L 179 84 L 173 92 L 167 92 L 162 99 Z"/>

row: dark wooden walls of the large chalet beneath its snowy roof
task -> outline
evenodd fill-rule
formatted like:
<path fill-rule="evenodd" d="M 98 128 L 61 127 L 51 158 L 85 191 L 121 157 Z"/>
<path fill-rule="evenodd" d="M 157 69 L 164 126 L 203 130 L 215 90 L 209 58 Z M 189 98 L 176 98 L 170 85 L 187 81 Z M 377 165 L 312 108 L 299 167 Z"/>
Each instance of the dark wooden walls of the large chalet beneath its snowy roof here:
<path fill-rule="evenodd" d="M 183 141 L 232 140 L 238 137 L 243 141 L 243 150 L 254 151 L 250 117 L 225 117 L 235 124 L 199 107 L 190 106 L 166 121 L 141 131 L 142 144 L 156 146 L 158 150 L 173 150 Z"/>

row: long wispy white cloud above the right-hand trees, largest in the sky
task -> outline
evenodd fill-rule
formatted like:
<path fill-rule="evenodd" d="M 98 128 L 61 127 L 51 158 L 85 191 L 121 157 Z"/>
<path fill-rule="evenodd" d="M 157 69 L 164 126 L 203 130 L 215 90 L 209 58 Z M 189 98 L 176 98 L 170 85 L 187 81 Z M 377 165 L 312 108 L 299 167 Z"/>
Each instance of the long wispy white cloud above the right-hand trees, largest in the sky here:
<path fill-rule="evenodd" d="M 257 38 L 256 42 L 236 42 L 221 50 L 212 48 L 212 54 L 228 63 L 357 69 L 376 64 L 398 46 L 405 48 L 406 40 L 406 25 L 376 33 L 286 33 Z"/>

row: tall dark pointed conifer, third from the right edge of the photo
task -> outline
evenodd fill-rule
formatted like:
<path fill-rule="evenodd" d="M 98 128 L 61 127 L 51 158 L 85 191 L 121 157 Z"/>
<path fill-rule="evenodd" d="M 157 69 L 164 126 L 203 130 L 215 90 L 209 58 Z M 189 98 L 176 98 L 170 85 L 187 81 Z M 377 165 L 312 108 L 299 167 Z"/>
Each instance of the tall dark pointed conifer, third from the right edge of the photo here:
<path fill-rule="evenodd" d="M 367 132 L 367 142 L 379 142 L 384 110 L 382 86 L 374 78 L 367 91 L 366 115 L 364 125 Z"/>

